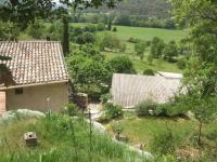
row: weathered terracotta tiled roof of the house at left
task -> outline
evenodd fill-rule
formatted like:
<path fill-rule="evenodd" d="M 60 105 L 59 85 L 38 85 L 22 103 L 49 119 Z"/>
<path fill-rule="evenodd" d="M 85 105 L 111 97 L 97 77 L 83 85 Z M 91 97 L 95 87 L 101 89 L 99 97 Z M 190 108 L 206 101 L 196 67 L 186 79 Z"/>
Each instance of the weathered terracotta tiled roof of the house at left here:
<path fill-rule="evenodd" d="M 15 85 L 68 80 L 60 42 L 0 41 L 0 55 L 11 57 L 0 64 L 7 64 Z"/>

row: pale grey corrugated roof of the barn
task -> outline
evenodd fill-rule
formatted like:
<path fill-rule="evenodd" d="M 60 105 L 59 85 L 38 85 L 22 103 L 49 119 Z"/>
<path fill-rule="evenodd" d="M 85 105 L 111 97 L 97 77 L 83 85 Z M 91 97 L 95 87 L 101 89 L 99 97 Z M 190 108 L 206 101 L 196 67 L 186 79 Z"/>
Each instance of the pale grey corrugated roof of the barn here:
<path fill-rule="evenodd" d="M 179 91 L 180 86 L 181 78 L 177 77 L 114 73 L 112 96 L 114 104 L 133 108 L 145 99 L 166 103 Z"/>

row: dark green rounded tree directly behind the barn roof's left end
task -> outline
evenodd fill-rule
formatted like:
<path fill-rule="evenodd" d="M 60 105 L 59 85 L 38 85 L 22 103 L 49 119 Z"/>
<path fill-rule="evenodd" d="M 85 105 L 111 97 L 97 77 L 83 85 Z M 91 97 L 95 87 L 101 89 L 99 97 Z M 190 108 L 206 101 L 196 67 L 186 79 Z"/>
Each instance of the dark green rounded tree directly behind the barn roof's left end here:
<path fill-rule="evenodd" d="M 116 56 L 108 60 L 108 65 L 116 73 L 136 73 L 133 64 L 127 56 Z"/>

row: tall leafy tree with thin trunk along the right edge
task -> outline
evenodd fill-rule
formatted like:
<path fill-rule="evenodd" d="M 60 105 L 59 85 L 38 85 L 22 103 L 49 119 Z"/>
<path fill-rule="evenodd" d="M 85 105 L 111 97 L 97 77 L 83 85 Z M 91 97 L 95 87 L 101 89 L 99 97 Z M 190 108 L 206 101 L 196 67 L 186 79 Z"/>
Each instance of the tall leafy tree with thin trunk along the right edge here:
<path fill-rule="evenodd" d="M 183 84 L 191 99 L 190 109 L 202 123 L 217 113 L 217 1 L 173 0 L 174 13 L 180 25 L 191 26 L 192 54 L 184 72 Z M 189 99 L 186 99 L 189 104 Z"/>

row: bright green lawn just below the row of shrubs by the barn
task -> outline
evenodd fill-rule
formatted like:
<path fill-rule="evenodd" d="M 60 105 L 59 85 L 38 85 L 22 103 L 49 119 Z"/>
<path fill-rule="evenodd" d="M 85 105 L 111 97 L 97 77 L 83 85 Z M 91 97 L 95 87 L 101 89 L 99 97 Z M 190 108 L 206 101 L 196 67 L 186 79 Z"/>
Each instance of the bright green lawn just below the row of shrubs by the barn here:
<path fill-rule="evenodd" d="M 114 122 L 114 121 L 113 121 Z M 168 119 L 159 117 L 138 118 L 133 112 L 125 112 L 124 119 L 118 120 L 124 129 L 123 135 L 129 138 L 130 145 L 144 144 L 145 150 L 151 151 L 153 137 L 163 130 L 169 127 L 178 134 L 183 144 L 189 144 L 189 138 L 196 136 L 199 123 L 182 118 Z M 204 125 L 203 135 L 207 135 L 216 129 L 216 122 Z M 110 134 L 113 134 L 111 123 L 105 124 Z M 192 141 L 191 141 L 192 143 Z"/>

